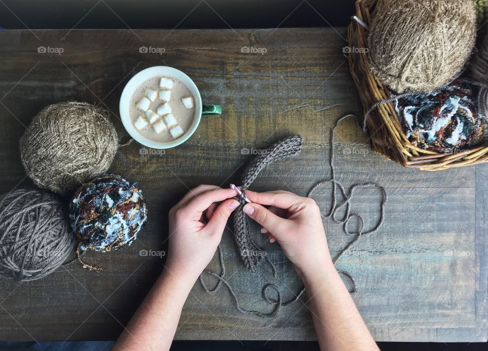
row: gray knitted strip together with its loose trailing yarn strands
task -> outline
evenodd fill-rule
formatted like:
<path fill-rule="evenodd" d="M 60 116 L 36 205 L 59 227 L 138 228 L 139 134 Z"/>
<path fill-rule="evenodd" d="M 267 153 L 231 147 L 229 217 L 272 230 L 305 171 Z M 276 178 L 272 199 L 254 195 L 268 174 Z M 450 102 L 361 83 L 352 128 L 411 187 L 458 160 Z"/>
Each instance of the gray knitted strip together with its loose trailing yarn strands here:
<path fill-rule="evenodd" d="M 363 184 L 356 184 L 353 185 L 349 189 L 349 193 L 346 192 L 346 189 L 344 186 L 337 180 L 335 179 L 335 169 L 334 169 L 334 152 L 333 152 L 333 145 L 334 145 L 334 134 L 335 134 L 335 129 L 337 128 L 338 124 L 344 119 L 349 116 L 354 117 L 354 115 L 348 114 L 345 115 L 341 118 L 339 118 L 336 122 L 334 127 L 332 128 L 330 132 L 330 156 L 329 156 L 329 162 L 330 162 L 330 169 L 331 169 L 331 178 L 325 181 L 321 181 L 317 184 L 315 184 L 312 189 L 310 190 L 308 196 L 311 197 L 317 190 L 322 187 L 325 184 L 332 183 L 332 204 L 330 207 L 330 210 L 328 214 L 322 214 L 322 217 L 327 219 L 331 218 L 334 222 L 343 224 L 344 225 L 344 232 L 348 235 L 354 236 L 354 238 L 346 245 L 344 249 L 342 249 L 336 257 L 333 258 L 332 262 L 335 264 L 342 256 L 343 254 L 349 250 L 352 245 L 354 245 L 357 240 L 359 240 L 360 237 L 366 236 L 372 233 L 377 232 L 381 225 L 383 224 L 384 221 L 384 212 L 385 212 L 385 205 L 388 200 L 386 190 L 381 186 L 376 183 L 363 183 Z M 266 152 L 263 152 L 260 156 L 256 157 L 253 159 L 251 164 L 245 169 L 243 173 L 243 178 L 242 178 L 242 185 L 241 185 L 241 190 L 242 194 L 245 194 L 245 190 L 251 185 L 251 183 L 256 179 L 258 176 L 259 172 L 261 172 L 266 166 L 269 164 L 279 161 L 281 159 L 288 158 L 290 156 L 294 156 L 300 152 L 301 145 L 303 143 L 303 138 L 301 136 L 291 136 L 288 137 L 282 141 L 279 141 L 276 144 L 273 144 L 271 147 L 269 147 Z M 378 188 L 381 190 L 382 194 L 382 200 L 381 200 L 381 209 L 380 209 L 380 218 L 376 224 L 376 226 L 368 231 L 364 230 L 364 220 L 363 218 L 356 213 L 351 213 L 350 212 L 350 206 L 351 206 L 351 200 L 353 198 L 353 193 L 354 190 L 357 188 Z M 341 193 L 341 196 L 343 198 L 342 202 L 338 201 L 338 192 Z M 262 258 L 265 258 L 266 262 L 270 265 L 272 269 L 272 276 L 273 278 L 276 278 L 277 276 L 277 271 L 275 265 L 271 262 L 269 259 L 269 256 L 265 254 L 265 251 L 260 248 L 253 239 L 253 236 L 251 235 L 250 231 L 250 225 L 249 225 L 249 218 L 246 214 L 243 213 L 242 207 L 245 205 L 245 200 L 244 200 L 244 195 L 241 197 L 237 197 L 237 200 L 240 201 L 240 206 L 236 210 L 234 214 L 234 235 L 235 235 L 235 240 L 237 243 L 237 247 L 239 249 L 240 257 L 246 267 L 251 271 L 251 272 L 256 272 L 256 267 L 262 260 Z M 342 208 L 345 208 L 345 213 L 342 218 L 338 217 L 338 211 L 340 211 Z M 349 230 L 349 223 L 351 219 L 356 218 L 359 221 L 359 228 L 357 231 L 350 231 Z M 263 318 L 270 318 L 270 317 L 275 317 L 279 314 L 280 308 L 283 306 L 287 306 L 289 304 L 292 304 L 296 302 L 300 296 L 304 293 L 305 289 L 302 287 L 300 292 L 292 299 L 282 302 L 282 296 L 281 293 L 278 289 L 278 286 L 273 283 L 267 283 L 263 287 L 263 298 L 266 303 L 275 305 L 275 308 L 269 312 L 269 313 L 263 313 L 260 311 L 255 311 L 255 310 L 247 310 L 244 309 L 240 306 L 239 301 L 237 299 L 237 295 L 233 291 L 231 285 L 229 282 L 225 279 L 225 264 L 223 260 L 223 253 L 222 253 L 222 248 L 219 245 L 219 260 L 220 260 L 220 266 L 221 266 L 221 272 L 220 274 L 215 273 L 215 272 L 210 272 L 208 270 L 205 270 L 202 272 L 200 275 L 200 282 L 203 286 L 203 289 L 206 293 L 208 294 L 214 294 L 216 293 L 220 286 L 222 284 L 227 286 L 227 289 L 229 290 L 230 294 L 232 295 L 237 310 L 241 313 L 245 314 L 254 314 L 258 315 Z M 257 254 L 260 252 L 261 254 Z M 264 254 L 262 254 L 264 252 Z M 338 272 L 347 278 L 351 280 L 351 283 L 353 285 L 352 290 L 350 291 L 351 294 L 354 294 L 357 292 L 357 284 L 355 280 L 352 278 L 352 276 L 345 271 L 338 270 Z M 208 289 L 204 280 L 203 280 L 203 275 L 208 274 L 210 276 L 213 276 L 218 279 L 218 282 L 215 286 L 214 289 Z M 273 299 L 270 298 L 268 295 L 268 290 L 272 289 L 276 292 L 277 298 Z"/>

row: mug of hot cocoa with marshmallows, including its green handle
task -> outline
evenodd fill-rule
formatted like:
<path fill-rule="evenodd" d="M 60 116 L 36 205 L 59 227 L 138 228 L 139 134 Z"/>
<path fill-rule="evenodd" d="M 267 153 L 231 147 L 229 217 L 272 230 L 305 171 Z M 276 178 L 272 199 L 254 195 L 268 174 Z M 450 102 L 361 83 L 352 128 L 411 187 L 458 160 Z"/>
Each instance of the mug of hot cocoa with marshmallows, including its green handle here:
<path fill-rule="evenodd" d="M 166 66 L 137 73 L 124 88 L 119 108 L 132 138 L 158 149 L 188 140 L 202 115 L 222 113 L 218 105 L 202 105 L 200 92 L 190 77 Z"/>

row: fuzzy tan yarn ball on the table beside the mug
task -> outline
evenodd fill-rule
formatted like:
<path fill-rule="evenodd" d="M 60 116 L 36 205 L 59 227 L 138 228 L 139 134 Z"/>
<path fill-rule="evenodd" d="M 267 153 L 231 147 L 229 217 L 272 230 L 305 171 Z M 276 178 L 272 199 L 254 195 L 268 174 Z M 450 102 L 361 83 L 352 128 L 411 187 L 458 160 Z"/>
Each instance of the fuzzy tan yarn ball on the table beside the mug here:
<path fill-rule="evenodd" d="M 117 133 L 105 111 L 66 102 L 49 105 L 34 117 L 20 140 L 20 156 L 37 186 L 65 195 L 105 173 L 117 147 Z"/>

